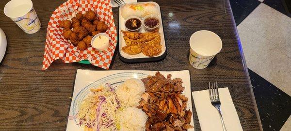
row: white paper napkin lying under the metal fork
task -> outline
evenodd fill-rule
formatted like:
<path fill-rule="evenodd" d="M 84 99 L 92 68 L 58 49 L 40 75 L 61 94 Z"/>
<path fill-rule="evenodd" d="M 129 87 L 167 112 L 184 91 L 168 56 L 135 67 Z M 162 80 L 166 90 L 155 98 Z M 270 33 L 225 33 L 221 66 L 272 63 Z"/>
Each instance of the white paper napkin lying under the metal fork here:
<path fill-rule="evenodd" d="M 235 110 L 228 88 L 219 88 L 221 114 L 227 131 L 242 131 L 239 116 Z M 217 109 L 211 105 L 209 91 L 194 91 L 192 96 L 195 103 L 202 131 L 223 131 Z"/>

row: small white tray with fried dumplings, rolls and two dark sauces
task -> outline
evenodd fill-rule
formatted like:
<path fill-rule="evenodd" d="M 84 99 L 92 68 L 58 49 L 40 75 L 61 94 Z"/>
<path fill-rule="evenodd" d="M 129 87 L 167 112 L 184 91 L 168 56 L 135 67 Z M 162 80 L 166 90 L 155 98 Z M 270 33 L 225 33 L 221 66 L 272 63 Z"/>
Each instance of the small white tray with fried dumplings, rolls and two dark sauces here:
<path fill-rule="evenodd" d="M 162 14 L 156 2 L 119 8 L 119 56 L 125 62 L 158 61 L 166 56 Z"/>

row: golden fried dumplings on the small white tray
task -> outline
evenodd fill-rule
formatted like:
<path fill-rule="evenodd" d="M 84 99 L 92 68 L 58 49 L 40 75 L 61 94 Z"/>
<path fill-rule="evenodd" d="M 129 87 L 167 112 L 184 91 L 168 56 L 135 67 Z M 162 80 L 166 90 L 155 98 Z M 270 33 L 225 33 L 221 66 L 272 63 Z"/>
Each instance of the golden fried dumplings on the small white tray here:
<path fill-rule="evenodd" d="M 127 54 L 143 53 L 146 56 L 157 56 L 162 52 L 161 35 L 158 30 L 149 33 L 121 31 L 127 46 L 122 50 Z"/>

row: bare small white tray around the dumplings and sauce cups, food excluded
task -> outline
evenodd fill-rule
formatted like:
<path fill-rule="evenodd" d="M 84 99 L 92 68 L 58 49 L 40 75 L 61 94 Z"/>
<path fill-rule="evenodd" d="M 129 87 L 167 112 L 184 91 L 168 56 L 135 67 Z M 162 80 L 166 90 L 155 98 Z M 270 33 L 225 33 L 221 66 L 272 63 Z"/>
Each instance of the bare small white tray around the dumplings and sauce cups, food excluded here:
<path fill-rule="evenodd" d="M 156 2 L 137 2 L 137 4 L 143 4 L 143 3 L 153 3 L 155 4 L 158 9 L 159 9 L 159 12 L 158 12 L 158 16 L 160 17 L 161 19 L 161 25 L 160 25 L 160 28 L 159 28 L 159 32 L 161 34 L 161 45 L 162 45 L 162 52 L 161 54 L 157 55 L 157 56 L 154 56 L 154 57 L 149 57 L 149 56 L 146 56 L 145 54 L 143 53 L 139 53 L 139 54 L 135 54 L 135 55 L 129 55 L 127 53 L 125 53 L 124 51 L 122 51 L 122 47 L 125 47 L 126 44 L 125 44 L 125 40 L 123 39 L 123 33 L 121 32 L 121 30 L 123 31 L 126 31 L 125 29 L 125 19 L 121 16 L 121 8 L 124 6 L 121 6 L 119 8 L 119 11 L 118 11 L 118 27 L 119 27 L 119 56 L 121 56 L 122 60 L 123 61 L 126 61 L 126 62 L 146 62 L 146 61 L 158 61 L 158 60 L 161 60 L 165 57 L 165 54 L 166 54 L 166 43 L 165 43 L 165 38 L 164 38 L 164 33 L 163 33 L 163 25 L 162 25 L 162 14 L 161 14 L 161 9 L 160 9 L 160 6 L 158 3 Z M 134 4 L 134 3 L 128 3 L 128 4 Z M 141 33 L 145 33 L 146 30 L 142 27 L 142 30 L 141 30 Z M 146 58 L 146 59 L 145 59 Z M 142 60 L 137 60 L 137 59 L 142 59 Z"/>

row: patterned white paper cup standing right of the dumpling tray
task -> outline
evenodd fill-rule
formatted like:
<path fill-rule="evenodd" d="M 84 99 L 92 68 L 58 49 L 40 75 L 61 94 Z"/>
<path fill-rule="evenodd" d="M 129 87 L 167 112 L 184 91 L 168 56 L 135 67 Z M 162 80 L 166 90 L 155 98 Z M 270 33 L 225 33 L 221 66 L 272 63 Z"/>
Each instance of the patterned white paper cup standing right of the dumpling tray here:
<path fill-rule="evenodd" d="M 189 62 L 196 69 L 206 68 L 222 49 L 220 37 L 213 32 L 202 30 L 190 37 Z"/>

